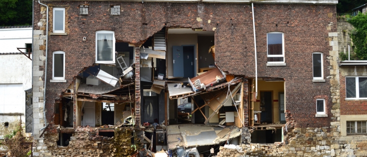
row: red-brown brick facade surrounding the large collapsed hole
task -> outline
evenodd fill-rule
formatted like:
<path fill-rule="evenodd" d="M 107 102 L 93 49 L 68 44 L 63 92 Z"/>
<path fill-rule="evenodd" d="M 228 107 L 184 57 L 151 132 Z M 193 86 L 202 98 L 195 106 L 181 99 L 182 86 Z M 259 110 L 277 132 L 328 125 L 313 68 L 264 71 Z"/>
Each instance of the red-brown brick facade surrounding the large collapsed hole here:
<path fill-rule="evenodd" d="M 52 1 L 52 6 L 65 6 L 67 35 L 50 35 L 49 54 L 65 51 L 66 83 L 47 81 L 47 119 L 52 119 L 53 102 L 65 91 L 84 67 L 95 62 L 95 31 L 113 30 L 116 40 L 136 46 L 162 27 L 202 27 L 215 30 L 216 63 L 224 71 L 254 77 L 254 48 L 251 6 L 235 3 L 172 3 L 118 1 Z M 79 5 L 89 6 L 88 15 L 79 15 Z M 110 5 L 120 5 L 120 15 L 109 15 Z M 294 115 L 298 127 L 329 124 L 330 117 L 315 118 L 318 95 L 330 95 L 329 80 L 312 82 L 314 51 L 323 52 L 324 75 L 327 74 L 331 50 L 328 32 L 336 31 L 335 5 L 255 4 L 257 62 L 259 77 L 285 78 L 286 109 Z M 37 15 L 37 11 L 36 16 Z M 50 9 L 50 18 L 52 9 Z M 331 14 L 330 14 L 331 13 Z M 38 18 L 38 17 L 36 17 Z M 210 20 L 210 21 L 209 21 Z M 331 27 L 330 27 L 331 25 Z M 329 26 L 329 29 L 328 27 Z M 49 30 L 52 22 L 49 21 Z M 286 66 L 266 66 L 266 32 L 284 32 Z M 83 41 L 82 37 L 86 37 Z M 48 55 L 47 80 L 51 77 L 52 55 Z M 138 88 L 138 85 L 136 85 Z M 136 96 L 138 99 L 138 96 Z M 331 99 L 326 102 L 331 107 Z M 309 110 L 312 109 L 312 110 Z M 318 123 L 314 123 L 318 122 Z"/>

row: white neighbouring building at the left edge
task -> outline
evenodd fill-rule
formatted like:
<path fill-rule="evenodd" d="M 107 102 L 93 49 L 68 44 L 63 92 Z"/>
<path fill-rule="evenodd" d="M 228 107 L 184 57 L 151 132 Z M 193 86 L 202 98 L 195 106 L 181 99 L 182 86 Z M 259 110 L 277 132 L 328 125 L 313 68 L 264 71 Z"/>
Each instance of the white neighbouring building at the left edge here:
<path fill-rule="evenodd" d="M 0 139 L 17 129 L 20 118 L 24 131 L 32 133 L 31 47 L 31 26 L 0 27 Z M 17 48 L 29 49 L 19 49 L 23 54 Z"/>

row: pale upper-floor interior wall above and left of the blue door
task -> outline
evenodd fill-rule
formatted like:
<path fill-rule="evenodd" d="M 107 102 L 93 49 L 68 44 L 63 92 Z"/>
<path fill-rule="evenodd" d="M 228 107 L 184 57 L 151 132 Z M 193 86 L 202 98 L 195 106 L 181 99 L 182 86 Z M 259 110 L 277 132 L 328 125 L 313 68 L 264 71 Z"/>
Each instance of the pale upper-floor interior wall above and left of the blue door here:
<path fill-rule="evenodd" d="M 167 70 L 168 77 L 173 77 L 172 46 L 196 45 L 197 34 L 168 34 L 167 35 Z"/>

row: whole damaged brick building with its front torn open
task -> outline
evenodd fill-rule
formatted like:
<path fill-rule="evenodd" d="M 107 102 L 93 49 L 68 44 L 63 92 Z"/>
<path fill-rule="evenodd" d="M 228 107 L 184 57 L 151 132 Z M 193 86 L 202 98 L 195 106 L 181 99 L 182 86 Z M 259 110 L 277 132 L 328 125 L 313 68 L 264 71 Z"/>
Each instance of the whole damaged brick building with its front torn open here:
<path fill-rule="evenodd" d="M 336 3 L 35 1 L 33 155 L 334 156 Z"/>

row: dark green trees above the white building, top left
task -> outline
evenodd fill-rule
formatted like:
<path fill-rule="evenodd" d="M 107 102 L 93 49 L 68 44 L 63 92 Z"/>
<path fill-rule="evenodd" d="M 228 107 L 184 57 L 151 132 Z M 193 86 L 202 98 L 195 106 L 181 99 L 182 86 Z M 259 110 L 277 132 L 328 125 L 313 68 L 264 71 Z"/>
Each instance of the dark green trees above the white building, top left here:
<path fill-rule="evenodd" d="M 0 0 L 0 26 L 31 23 L 32 0 Z"/>

